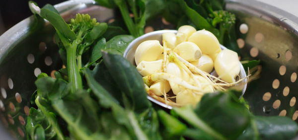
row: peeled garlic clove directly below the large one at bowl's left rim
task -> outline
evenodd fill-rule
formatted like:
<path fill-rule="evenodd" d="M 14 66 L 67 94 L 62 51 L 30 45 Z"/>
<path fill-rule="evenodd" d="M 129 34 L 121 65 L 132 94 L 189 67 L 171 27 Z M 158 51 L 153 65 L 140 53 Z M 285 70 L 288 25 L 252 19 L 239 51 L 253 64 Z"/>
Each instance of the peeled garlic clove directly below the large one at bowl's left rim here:
<path fill-rule="evenodd" d="M 162 60 L 141 61 L 137 66 L 137 70 L 142 76 L 162 72 Z"/>

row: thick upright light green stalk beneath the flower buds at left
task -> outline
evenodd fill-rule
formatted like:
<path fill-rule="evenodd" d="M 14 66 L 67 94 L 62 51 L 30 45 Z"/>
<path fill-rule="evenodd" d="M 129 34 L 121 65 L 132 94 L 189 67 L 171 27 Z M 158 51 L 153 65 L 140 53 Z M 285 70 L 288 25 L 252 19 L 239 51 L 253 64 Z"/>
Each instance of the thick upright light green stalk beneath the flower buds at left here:
<path fill-rule="evenodd" d="M 79 44 L 79 40 L 75 40 L 71 47 L 66 48 L 67 53 L 67 69 L 69 75 L 69 82 L 72 83 L 71 92 L 74 93 L 77 90 L 83 89 L 82 78 L 79 74 L 79 69 L 76 63 L 76 47 Z"/>

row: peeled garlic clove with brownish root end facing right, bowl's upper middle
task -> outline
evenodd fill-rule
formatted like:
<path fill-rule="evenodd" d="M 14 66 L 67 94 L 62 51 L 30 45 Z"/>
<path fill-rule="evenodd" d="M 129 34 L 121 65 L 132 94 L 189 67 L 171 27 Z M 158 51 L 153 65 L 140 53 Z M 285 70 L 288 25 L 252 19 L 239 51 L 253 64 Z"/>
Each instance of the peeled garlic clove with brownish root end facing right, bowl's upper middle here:
<path fill-rule="evenodd" d="M 192 42 L 180 43 L 174 48 L 174 52 L 189 62 L 198 60 L 202 56 L 201 49 Z"/>

